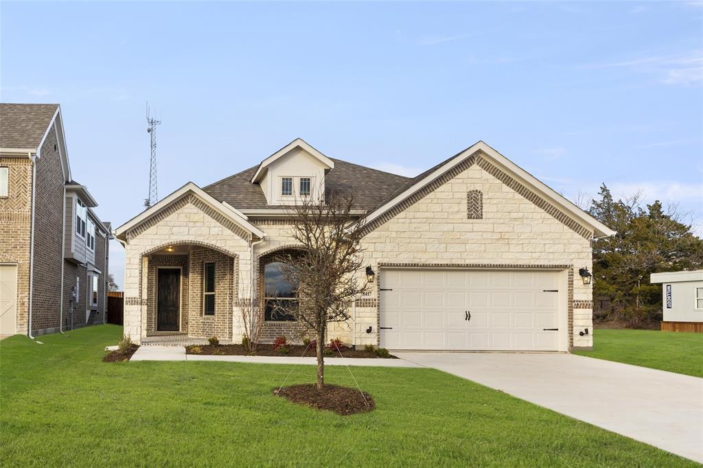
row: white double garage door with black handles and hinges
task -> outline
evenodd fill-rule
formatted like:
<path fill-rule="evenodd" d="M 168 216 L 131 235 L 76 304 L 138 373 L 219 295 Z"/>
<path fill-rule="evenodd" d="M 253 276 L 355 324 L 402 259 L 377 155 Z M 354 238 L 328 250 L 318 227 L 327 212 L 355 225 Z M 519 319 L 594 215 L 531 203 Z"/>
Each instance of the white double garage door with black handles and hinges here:
<path fill-rule="evenodd" d="M 566 351 L 563 275 L 531 270 L 384 269 L 381 346 Z"/>

